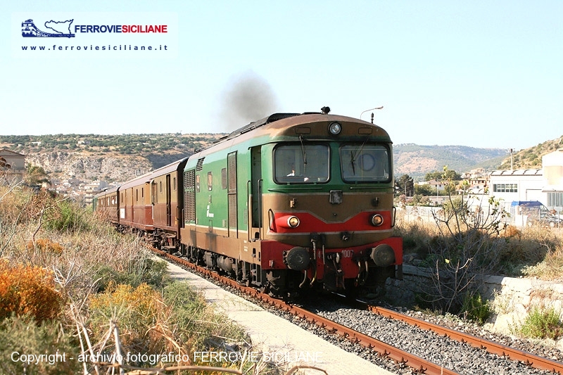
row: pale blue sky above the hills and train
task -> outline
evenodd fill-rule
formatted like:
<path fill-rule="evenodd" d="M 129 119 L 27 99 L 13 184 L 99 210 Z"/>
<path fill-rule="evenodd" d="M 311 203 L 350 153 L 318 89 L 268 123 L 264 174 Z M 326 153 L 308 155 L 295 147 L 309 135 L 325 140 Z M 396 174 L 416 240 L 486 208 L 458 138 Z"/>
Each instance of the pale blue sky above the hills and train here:
<path fill-rule="evenodd" d="M 13 13 L 38 12 L 172 14 L 177 51 L 14 56 Z M 563 135 L 563 1 L 4 1 L 0 20 L 1 135 L 228 132 L 322 106 L 384 106 L 396 144 Z"/>

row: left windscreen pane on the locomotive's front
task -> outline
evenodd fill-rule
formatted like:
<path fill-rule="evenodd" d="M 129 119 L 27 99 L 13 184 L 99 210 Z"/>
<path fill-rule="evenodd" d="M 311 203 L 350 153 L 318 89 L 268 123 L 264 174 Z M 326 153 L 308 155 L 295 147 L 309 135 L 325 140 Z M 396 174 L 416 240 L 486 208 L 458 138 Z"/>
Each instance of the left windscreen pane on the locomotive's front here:
<path fill-rule="evenodd" d="M 278 184 L 314 184 L 329 180 L 329 147 L 291 144 L 274 150 L 274 179 Z"/>

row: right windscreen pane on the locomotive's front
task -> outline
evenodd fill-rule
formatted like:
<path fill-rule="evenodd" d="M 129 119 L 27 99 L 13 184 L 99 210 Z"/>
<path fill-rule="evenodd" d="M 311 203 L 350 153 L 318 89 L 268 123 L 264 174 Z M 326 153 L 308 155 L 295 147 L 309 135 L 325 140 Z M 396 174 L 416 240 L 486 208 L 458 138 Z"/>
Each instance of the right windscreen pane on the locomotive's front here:
<path fill-rule="evenodd" d="M 346 182 L 389 182 L 391 155 L 385 146 L 347 145 L 340 148 L 342 179 Z"/>

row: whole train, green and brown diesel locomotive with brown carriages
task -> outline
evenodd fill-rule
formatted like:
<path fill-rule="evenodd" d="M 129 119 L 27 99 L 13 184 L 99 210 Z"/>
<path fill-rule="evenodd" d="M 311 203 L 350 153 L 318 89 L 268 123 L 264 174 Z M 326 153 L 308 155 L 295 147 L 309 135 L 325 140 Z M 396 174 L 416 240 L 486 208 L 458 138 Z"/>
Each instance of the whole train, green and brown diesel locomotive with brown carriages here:
<path fill-rule="evenodd" d="M 393 150 L 377 125 L 275 113 L 100 193 L 94 209 L 156 246 L 281 297 L 402 278 Z"/>

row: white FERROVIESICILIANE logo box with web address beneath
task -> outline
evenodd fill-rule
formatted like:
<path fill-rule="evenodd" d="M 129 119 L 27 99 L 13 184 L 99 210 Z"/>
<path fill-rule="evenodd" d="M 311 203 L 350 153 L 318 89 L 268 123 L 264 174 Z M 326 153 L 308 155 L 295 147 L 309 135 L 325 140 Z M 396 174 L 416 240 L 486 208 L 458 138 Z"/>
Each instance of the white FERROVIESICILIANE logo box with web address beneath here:
<path fill-rule="evenodd" d="M 176 58 L 170 12 L 20 12 L 11 16 L 15 58 Z"/>

